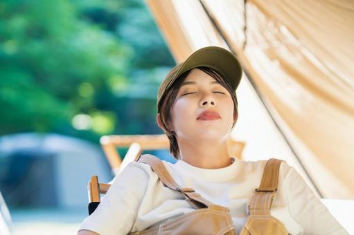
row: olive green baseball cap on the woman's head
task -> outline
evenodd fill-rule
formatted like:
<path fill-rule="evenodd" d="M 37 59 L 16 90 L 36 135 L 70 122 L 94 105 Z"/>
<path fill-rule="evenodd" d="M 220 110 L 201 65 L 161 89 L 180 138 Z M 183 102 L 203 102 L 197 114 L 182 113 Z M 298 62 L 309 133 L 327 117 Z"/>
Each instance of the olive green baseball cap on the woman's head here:
<path fill-rule="evenodd" d="M 223 79 L 229 80 L 233 91 L 236 91 L 242 77 L 242 66 L 236 55 L 229 50 L 218 46 L 206 46 L 196 50 L 184 62 L 173 67 L 161 82 L 159 91 L 157 92 L 157 112 L 160 112 L 160 102 L 163 99 L 168 88 L 176 81 L 176 79 L 192 68 L 205 66 L 218 71 Z"/>

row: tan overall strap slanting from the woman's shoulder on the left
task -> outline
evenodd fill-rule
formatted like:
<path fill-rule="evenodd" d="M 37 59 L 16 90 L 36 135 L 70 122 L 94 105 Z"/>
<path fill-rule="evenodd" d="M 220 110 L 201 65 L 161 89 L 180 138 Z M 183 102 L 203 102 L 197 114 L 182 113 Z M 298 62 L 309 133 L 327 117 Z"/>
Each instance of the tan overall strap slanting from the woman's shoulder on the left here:
<path fill-rule="evenodd" d="M 143 154 L 136 159 L 136 162 L 149 164 L 152 170 L 157 173 L 157 176 L 161 182 L 163 182 L 163 185 L 174 191 L 179 191 L 179 193 L 181 193 L 186 198 L 186 200 L 188 200 L 188 202 L 191 203 L 193 207 L 195 207 L 195 209 L 209 207 L 218 211 L 229 212 L 227 207 L 222 207 L 220 205 L 215 205 L 209 202 L 209 200 L 206 200 L 200 196 L 200 194 L 196 193 L 194 189 L 180 187 L 177 182 L 173 180 L 172 176 L 170 176 L 170 173 L 168 173 L 168 170 L 166 169 L 163 162 L 156 156 L 151 154 Z"/>

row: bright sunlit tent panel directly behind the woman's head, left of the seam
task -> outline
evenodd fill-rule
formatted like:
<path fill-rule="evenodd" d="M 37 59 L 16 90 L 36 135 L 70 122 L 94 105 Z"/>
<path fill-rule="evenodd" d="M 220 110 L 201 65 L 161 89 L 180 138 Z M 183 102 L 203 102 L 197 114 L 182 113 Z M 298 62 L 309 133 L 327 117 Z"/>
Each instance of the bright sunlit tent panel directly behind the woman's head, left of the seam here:
<path fill-rule="evenodd" d="M 227 44 L 225 41 L 222 41 L 222 37 L 216 34 L 210 34 L 209 37 L 206 37 L 211 31 L 218 32 L 217 30 L 215 31 L 211 22 L 208 21 L 209 23 L 204 23 L 203 26 L 199 27 L 199 25 L 191 24 L 188 21 L 179 21 L 179 18 L 176 17 L 176 9 L 184 10 L 184 7 L 188 8 L 188 4 L 174 4 L 183 3 L 186 2 L 178 1 L 173 4 L 170 1 L 149 2 L 150 10 L 153 12 L 157 24 L 166 38 L 167 44 L 170 46 L 170 50 L 176 62 L 182 62 L 191 54 L 193 49 L 188 48 L 193 44 L 199 45 L 197 48 L 209 46 L 210 44 L 227 48 Z M 199 8 L 189 11 L 184 10 L 184 17 L 188 14 L 188 18 L 191 19 L 191 21 L 203 23 L 203 21 L 200 21 L 198 18 L 202 15 L 204 19 L 207 19 L 205 18 L 207 17 L 206 12 L 202 9 L 200 4 L 195 4 L 195 6 L 199 6 Z M 198 9 L 199 14 L 196 14 L 196 10 Z M 166 14 L 166 12 L 168 12 L 168 14 Z M 168 22 L 171 27 L 166 27 L 166 22 Z M 197 33 L 192 33 L 191 35 L 186 35 L 182 31 L 182 28 L 190 28 L 191 32 L 193 32 L 193 28 L 195 27 L 198 29 L 202 28 L 203 30 L 195 30 L 194 32 Z M 185 37 L 181 37 L 181 35 Z M 176 40 L 175 37 L 178 37 L 178 40 Z M 161 77 L 161 79 L 163 78 Z M 272 118 L 265 110 L 262 102 L 249 83 L 249 80 L 241 79 L 237 94 L 238 97 L 241 97 L 241 99 L 238 100 L 239 116 L 236 131 L 233 131 L 232 135 L 235 139 L 247 142 L 245 149 L 242 151 L 242 156 L 246 160 L 266 160 L 269 156 L 276 156 L 277 158 L 286 160 L 297 168 L 301 176 L 308 182 L 308 185 L 315 191 L 315 194 L 320 196 L 318 190 L 312 184 L 310 178 L 308 178 L 308 174 L 303 170 L 303 167 L 299 164 L 299 161 L 292 153 L 292 150 L 287 145 L 284 138 L 278 133 L 278 129 L 276 129 Z M 259 120 L 262 120 L 262 122 Z"/>

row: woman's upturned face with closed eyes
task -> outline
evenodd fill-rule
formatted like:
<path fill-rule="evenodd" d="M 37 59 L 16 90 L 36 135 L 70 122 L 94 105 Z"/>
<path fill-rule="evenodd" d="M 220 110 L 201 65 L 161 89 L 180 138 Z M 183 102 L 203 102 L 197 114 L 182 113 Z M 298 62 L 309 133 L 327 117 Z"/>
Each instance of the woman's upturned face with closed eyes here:
<path fill-rule="evenodd" d="M 198 118 L 207 110 L 217 112 L 220 118 Z M 233 124 L 233 100 L 227 88 L 194 68 L 179 88 L 171 118 L 177 139 L 203 138 L 222 142 L 229 136 Z"/>

